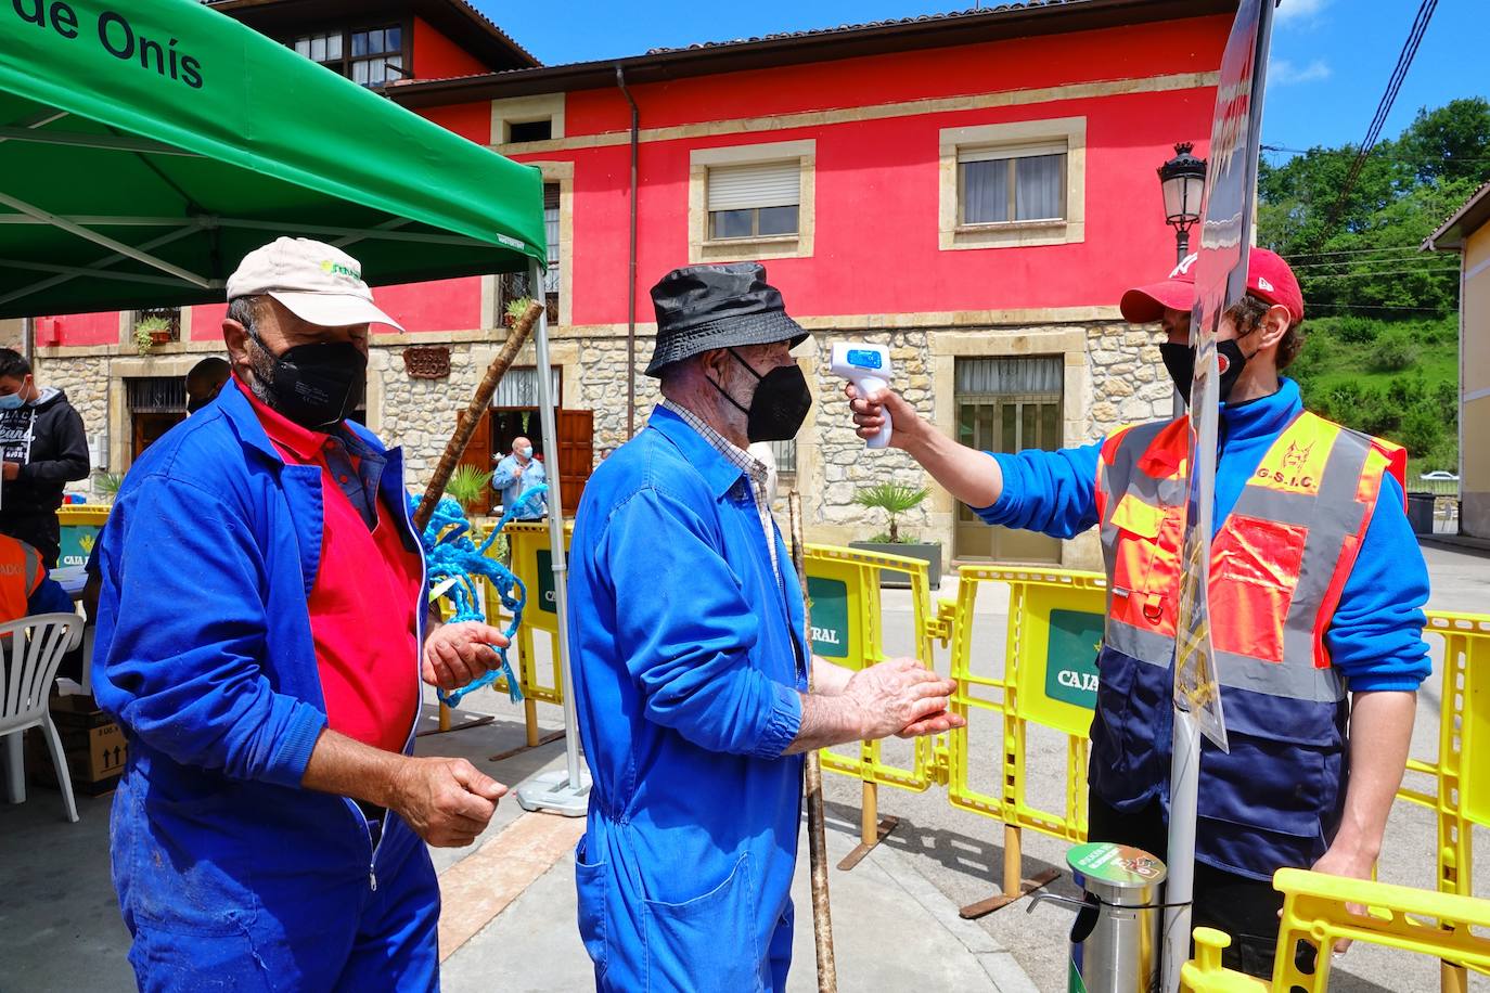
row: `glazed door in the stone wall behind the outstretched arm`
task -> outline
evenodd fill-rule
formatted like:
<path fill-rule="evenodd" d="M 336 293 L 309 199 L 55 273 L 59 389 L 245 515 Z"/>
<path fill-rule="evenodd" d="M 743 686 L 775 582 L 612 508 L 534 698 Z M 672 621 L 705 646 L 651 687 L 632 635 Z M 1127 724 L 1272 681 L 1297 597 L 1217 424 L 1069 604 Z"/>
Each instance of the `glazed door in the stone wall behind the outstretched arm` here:
<path fill-rule="evenodd" d="M 980 451 L 1055 451 L 1064 444 L 1064 374 L 1062 356 L 958 359 L 957 439 Z M 1061 542 L 1037 531 L 989 527 L 960 503 L 954 555 L 1058 564 Z"/>

